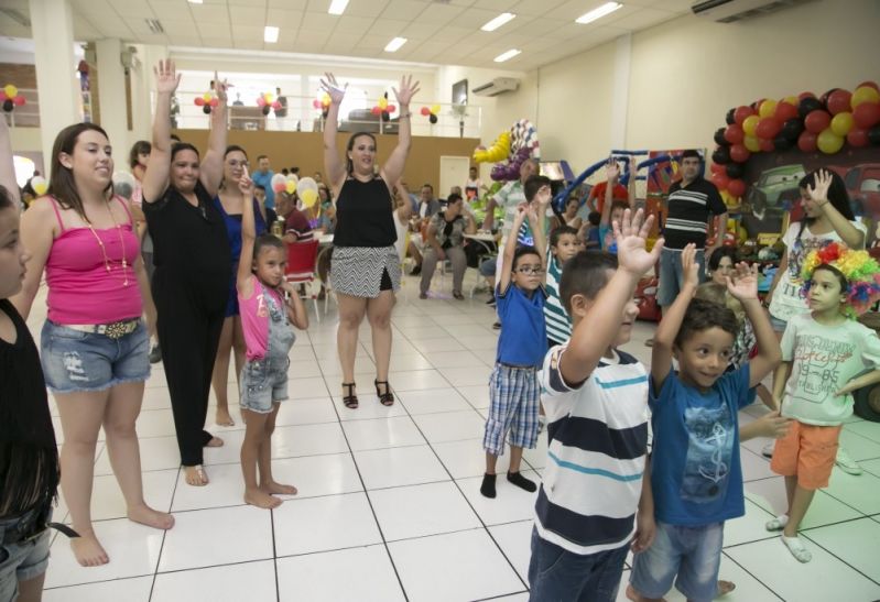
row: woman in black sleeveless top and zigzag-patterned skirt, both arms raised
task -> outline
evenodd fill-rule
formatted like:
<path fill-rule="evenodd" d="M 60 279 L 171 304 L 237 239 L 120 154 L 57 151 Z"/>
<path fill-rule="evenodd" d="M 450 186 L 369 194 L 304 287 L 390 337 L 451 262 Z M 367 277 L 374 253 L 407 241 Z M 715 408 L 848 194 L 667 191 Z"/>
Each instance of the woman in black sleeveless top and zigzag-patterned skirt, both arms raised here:
<path fill-rule="evenodd" d="M 388 384 L 391 361 L 391 308 L 394 291 L 400 287 L 400 259 L 394 249 L 391 187 L 400 179 L 410 153 L 410 99 L 419 91 L 412 77 L 400 80 L 394 89 L 400 106 L 398 145 L 376 175 L 376 138 L 366 132 L 348 140 L 346 163 L 339 161 L 336 147 L 336 123 L 345 88 L 327 74 L 322 87 L 330 96 L 330 108 L 324 129 L 324 169 L 336 198 L 330 282 L 339 302 L 339 329 L 336 344 L 343 364 L 343 402 L 358 407 L 355 392 L 355 352 L 358 327 L 363 316 L 372 329 L 376 359 L 376 394 L 383 405 L 394 403 Z M 347 85 L 346 85 L 347 87 Z"/>

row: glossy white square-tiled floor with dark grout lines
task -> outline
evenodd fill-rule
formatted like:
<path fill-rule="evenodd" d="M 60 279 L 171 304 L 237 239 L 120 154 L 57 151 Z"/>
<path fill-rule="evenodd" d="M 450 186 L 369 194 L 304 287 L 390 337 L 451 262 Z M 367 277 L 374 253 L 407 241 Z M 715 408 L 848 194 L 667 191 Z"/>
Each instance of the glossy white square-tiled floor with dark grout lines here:
<path fill-rule="evenodd" d="M 111 562 L 80 568 L 66 539 L 57 537 L 45 600 L 526 600 L 534 494 L 504 480 L 495 501 L 478 491 L 493 313 L 480 298 L 419 300 L 416 286 L 406 280 L 392 318 L 393 407 L 371 393 L 366 327 L 357 411 L 346 409 L 338 396 L 333 305 L 321 324 L 313 316 L 308 332 L 298 335 L 291 352 L 292 398 L 279 414 L 273 466 L 276 478 L 296 484 L 300 494 L 272 512 L 242 503 L 237 411 L 236 427 L 209 424 L 226 440 L 206 453 L 211 484 L 184 483 L 164 374 L 161 364 L 154 366 L 138 423 L 144 490 L 151 504 L 174 512 L 177 524 L 162 533 L 123 517 L 100 442 L 93 512 Z M 45 316 L 43 294 L 30 320 L 35 331 Z M 645 363 L 650 349 L 643 341 L 652 332 L 653 325 L 637 325 L 626 347 Z M 230 398 L 238 398 L 235 385 Z M 740 419 L 761 412 L 752 406 Z M 57 420 L 56 428 L 61 440 Z M 844 427 L 844 441 L 866 472 L 835 470 L 830 488 L 816 495 L 803 533 L 813 551 L 808 565 L 797 563 L 764 530 L 771 513 L 782 510 L 782 479 L 760 456 L 764 441 L 742 446 L 747 513 L 726 526 L 721 574 L 737 583 L 726 600 L 880 599 L 880 424 L 854 419 Z M 541 445 L 525 455 L 529 477 L 540 479 L 545 450 Z M 56 516 L 66 513 L 62 502 Z M 671 592 L 667 599 L 682 596 Z"/>

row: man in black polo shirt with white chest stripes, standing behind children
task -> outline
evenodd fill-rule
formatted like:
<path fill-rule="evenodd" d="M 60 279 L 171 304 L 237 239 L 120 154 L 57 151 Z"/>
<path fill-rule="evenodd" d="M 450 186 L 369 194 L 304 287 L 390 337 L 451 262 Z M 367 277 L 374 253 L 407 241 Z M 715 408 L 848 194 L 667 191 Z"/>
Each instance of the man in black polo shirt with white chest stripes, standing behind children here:
<path fill-rule="evenodd" d="M 727 206 L 718 188 L 703 177 L 703 160 L 698 152 L 688 150 L 682 153 L 681 172 L 682 179 L 670 186 L 666 200 L 663 230 L 666 247 L 660 255 L 660 288 L 656 294 L 663 315 L 678 296 L 684 282 L 682 250 L 692 242 L 696 245 L 702 281 L 706 272 L 705 256 L 721 245 L 727 232 Z M 720 216 L 718 236 L 706 249 L 709 223 L 716 216 Z"/>

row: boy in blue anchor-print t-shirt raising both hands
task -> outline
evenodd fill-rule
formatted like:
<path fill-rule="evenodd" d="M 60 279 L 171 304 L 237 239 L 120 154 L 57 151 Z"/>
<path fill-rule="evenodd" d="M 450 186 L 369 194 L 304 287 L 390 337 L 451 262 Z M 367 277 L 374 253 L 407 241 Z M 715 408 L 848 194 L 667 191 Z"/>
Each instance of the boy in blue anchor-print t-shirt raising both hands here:
<path fill-rule="evenodd" d="M 631 600 L 661 600 L 673 582 L 688 600 L 717 593 L 724 522 L 746 513 L 737 413 L 749 390 L 782 357 L 773 327 L 758 300 L 758 267 L 737 265 L 727 289 L 739 299 L 758 339 L 758 354 L 725 372 L 734 351 L 737 318 L 727 307 L 695 299 L 696 248 L 682 251 L 684 285 L 663 316 L 651 355 L 651 484 L 656 536 L 635 555 L 627 592 Z M 678 360 L 676 374 L 672 358 Z"/>

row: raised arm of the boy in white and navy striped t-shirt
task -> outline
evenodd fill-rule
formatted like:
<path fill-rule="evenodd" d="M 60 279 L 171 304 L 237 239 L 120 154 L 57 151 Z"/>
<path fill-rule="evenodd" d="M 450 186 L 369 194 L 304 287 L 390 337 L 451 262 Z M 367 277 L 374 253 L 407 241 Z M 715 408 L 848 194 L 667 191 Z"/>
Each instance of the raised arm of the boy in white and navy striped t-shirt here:
<path fill-rule="evenodd" d="M 588 300 L 583 295 L 572 298 L 572 311 L 583 316 L 559 361 L 559 371 L 566 383 L 580 383 L 593 373 L 620 330 L 623 307 L 632 299 L 639 278 L 660 259 L 662 239 L 656 241 L 651 252 L 645 250 L 654 218 L 651 216 L 642 223 L 642 216 L 641 209 L 632 217 L 627 210 L 623 220 L 615 222 L 618 269 L 593 305 L 587 307 Z"/>

